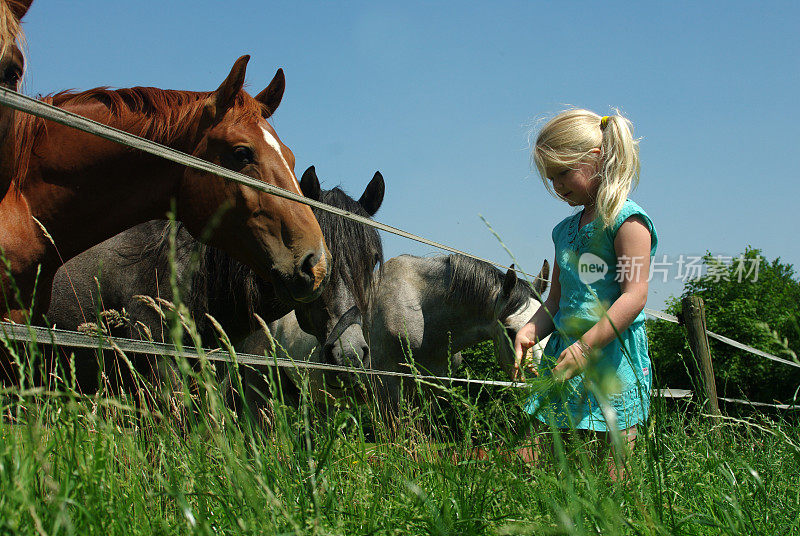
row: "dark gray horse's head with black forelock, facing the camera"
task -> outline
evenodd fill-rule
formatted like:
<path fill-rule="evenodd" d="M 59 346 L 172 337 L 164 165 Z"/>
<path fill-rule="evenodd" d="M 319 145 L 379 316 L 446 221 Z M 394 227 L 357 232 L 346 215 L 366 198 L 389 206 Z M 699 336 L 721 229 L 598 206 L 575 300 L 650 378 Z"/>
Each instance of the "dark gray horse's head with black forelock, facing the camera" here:
<path fill-rule="evenodd" d="M 385 185 L 376 172 L 356 201 L 339 188 L 322 190 L 313 166 L 300 179 L 303 194 L 359 216 L 371 217 L 381 206 Z M 361 329 L 361 312 L 369 307 L 375 267 L 383 262 L 378 232 L 336 214 L 314 209 L 325 239 L 333 252 L 331 280 L 315 302 L 295 308 L 300 327 L 314 335 L 326 363 L 368 367 L 369 346 Z M 347 314 L 346 314 L 347 313 Z M 340 374 L 344 384 L 354 377 Z"/>

